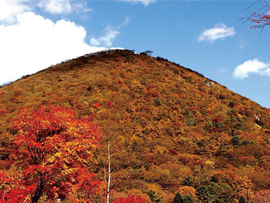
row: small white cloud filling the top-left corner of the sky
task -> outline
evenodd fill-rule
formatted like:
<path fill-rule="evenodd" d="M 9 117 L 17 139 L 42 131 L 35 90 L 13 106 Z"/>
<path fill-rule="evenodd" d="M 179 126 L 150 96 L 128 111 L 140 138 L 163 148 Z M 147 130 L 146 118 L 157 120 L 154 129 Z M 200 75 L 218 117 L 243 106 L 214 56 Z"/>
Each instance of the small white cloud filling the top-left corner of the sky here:
<path fill-rule="evenodd" d="M 26 5 L 29 0 L 1 0 L 0 21 L 11 23 L 16 20 L 16 15 L 30 10 Z"/>

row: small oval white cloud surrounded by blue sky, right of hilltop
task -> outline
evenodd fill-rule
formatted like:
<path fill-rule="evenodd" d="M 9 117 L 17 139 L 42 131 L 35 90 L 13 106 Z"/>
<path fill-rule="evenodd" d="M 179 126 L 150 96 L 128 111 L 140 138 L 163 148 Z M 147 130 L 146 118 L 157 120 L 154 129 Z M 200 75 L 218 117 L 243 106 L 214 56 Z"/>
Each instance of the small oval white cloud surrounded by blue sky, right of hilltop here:
<path fill-rule="evenodd" d="M 213 28 L 204 30 L 200 34 L 198 40 L 214 42 L 218 39 L 225 39 L 226 37 L 232 37 L 235 35 L 235 30 L 233 27 L 227 27 L 225 24 L 216 24 Z"/>

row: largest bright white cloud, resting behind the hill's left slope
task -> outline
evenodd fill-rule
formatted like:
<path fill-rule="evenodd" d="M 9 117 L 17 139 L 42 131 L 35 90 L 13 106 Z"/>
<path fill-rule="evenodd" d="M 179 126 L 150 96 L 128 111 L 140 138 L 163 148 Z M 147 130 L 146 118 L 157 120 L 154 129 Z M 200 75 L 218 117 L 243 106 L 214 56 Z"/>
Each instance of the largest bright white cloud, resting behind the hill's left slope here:
<path fill-rule="evenodd" d="M 0 25 L 0 84 L 14 81 L 52 64 L 105 48 L 91 47 L 86 30 L 73 22 L 52 22 L 32 12 L 14 25 Z"/>

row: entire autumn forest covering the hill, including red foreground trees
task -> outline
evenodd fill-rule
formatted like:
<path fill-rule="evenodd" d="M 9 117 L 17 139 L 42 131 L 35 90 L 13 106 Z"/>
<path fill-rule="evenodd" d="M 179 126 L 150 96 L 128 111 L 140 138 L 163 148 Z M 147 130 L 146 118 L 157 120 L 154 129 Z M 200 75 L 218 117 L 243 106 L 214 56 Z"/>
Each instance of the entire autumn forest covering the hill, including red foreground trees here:
<path fill-rule="evenodd" d="M 270 110 L 149 52 L 0 88 L 0 202 L 270 202 Z"/>

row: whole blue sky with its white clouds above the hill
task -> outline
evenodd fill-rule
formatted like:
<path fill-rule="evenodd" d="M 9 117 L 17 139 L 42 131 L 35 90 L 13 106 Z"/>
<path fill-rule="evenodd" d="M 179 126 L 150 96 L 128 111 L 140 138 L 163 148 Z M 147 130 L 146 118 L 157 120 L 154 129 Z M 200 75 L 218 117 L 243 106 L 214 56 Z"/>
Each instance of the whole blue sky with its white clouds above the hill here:
<path fill-rule="evenodd" d="M 270 27 L 239 22 L 253 2 L 0 0 L 0 84 L 103 49 L 152 50 L 270 108 Z"/>

